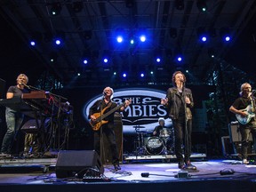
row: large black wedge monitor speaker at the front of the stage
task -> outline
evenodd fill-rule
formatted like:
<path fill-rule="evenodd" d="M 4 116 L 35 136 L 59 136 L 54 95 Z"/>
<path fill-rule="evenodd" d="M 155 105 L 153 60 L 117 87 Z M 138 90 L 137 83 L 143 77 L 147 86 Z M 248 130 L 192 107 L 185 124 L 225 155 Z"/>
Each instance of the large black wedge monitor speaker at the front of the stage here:
<path fill-rule="evenodd" d="M 100 176 L 104 167 L 94 150 L 63 150 L 58 154 L 55 172 L 57 178 L 83 178 L 85 172 L 98 172 Z"/>

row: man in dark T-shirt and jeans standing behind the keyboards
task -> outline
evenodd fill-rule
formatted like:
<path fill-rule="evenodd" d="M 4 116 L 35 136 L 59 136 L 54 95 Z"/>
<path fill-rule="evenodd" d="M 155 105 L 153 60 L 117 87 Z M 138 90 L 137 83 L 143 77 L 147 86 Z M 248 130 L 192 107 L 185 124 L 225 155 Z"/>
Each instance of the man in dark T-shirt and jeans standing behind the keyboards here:
<path fill-rule="evenodd" d="M 28 93 L 29 90 L 24 87 L 28 84 L 28 76 L 20 74 L 16 79 L 17 84 L 9 87 L 6 93 L 6 99 L 21 97 L 23 93 Z M 5 118 L 7 131 L 4 135 L 4 140 L 1 147 L 1 156 L 11 156 L 13 141 L 16 139 L 17 132 L 20 130 L 24 115 L 11 108 L 5 110 Z"/>

